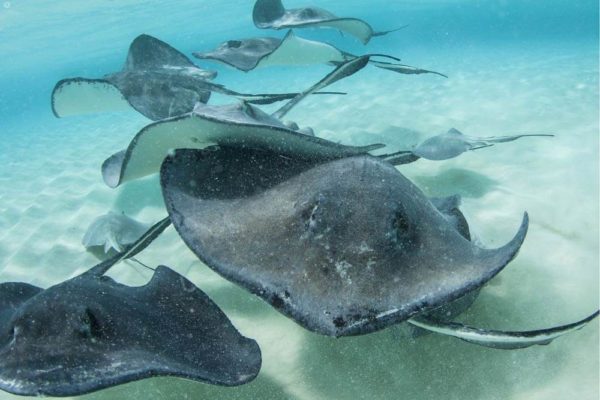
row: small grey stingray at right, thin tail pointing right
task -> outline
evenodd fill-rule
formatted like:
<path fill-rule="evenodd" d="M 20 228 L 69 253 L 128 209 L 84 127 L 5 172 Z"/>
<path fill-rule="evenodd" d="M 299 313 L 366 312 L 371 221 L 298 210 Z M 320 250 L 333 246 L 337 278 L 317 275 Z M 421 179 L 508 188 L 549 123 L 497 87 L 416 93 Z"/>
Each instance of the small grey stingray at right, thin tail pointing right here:
<path fill-rule="evenodd" d="M 554 135 L 533 134 L 514 136 L 474 137 L 465 136 L 457 129 L 431 137 L 418 145 L 412 152 L 414 155 L 428 160 L 448 160 L 469 150 L 491 147 L 497 143 L 512 142 L 522 137 L 552 137 Z"/>

